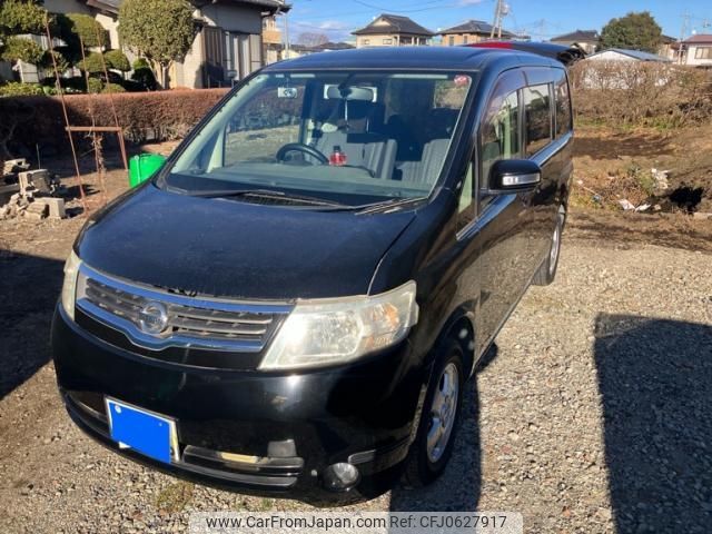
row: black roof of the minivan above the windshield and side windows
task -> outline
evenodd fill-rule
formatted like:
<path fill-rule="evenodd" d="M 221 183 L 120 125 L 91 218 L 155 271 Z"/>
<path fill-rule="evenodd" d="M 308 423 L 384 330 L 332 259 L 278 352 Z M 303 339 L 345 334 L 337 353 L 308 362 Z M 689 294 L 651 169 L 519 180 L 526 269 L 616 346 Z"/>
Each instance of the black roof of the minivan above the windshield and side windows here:
<path fill-rule="evenodd" d="M 318 69 L 426 69 L 478 70 L 502 58 L 515 58 L 522 63 L 556 66 L 561 63 L 534 53 L 488 48 L 466 47 L 378 47 L 313 53 L 301 58 L 271 63 L 265 70 Z"/>

